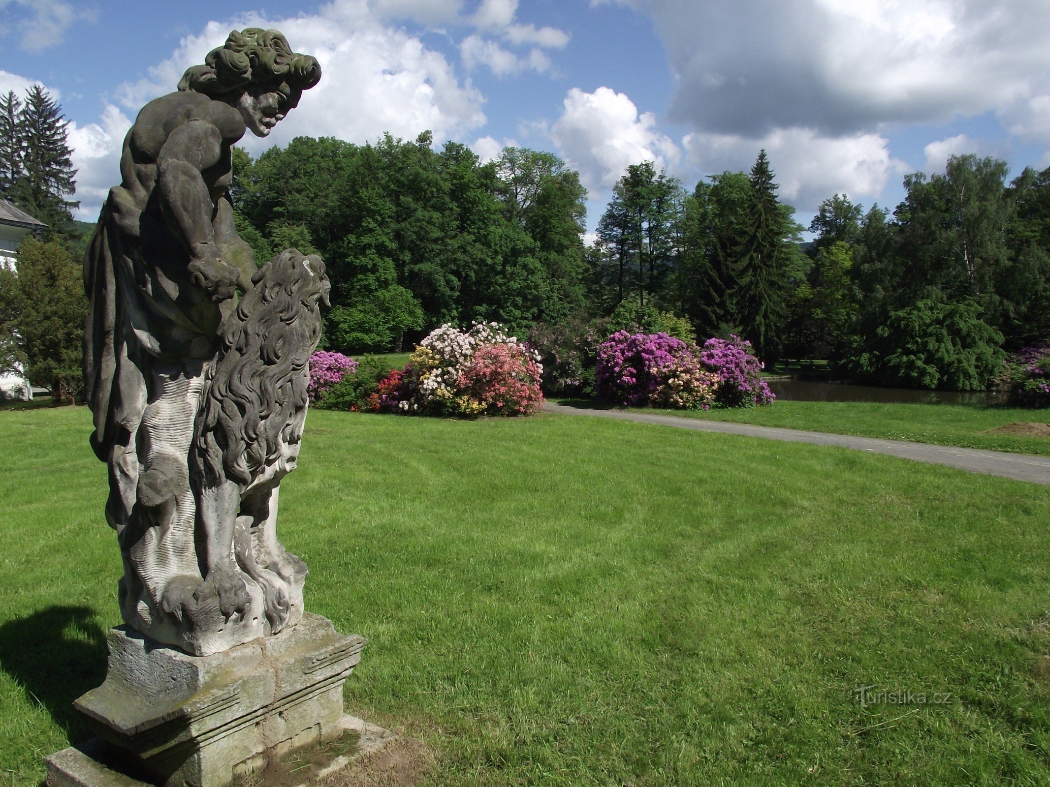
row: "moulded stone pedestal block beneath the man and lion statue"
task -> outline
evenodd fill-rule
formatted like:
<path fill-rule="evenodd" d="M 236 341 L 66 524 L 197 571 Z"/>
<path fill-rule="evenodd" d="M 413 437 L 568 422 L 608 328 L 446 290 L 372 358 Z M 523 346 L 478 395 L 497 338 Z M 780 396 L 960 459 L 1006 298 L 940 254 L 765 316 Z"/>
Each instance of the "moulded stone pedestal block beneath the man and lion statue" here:
<path fill-rule="evenodd" d="M 127 626 L 113 629 L 108 645 L 105 682 L 75 703 L 105 742 L 94 749 L 108 752 L 103 765 L 162 787 L 227 787 L 268 757 L 343 733 L 342 686 L 365 640 L 308 613 L 213 656 L 158 645 Z M 84 769 L 85 751 L 48 758 L 48 785 L 84 784 L 68 771 L 75 761 Z"/>

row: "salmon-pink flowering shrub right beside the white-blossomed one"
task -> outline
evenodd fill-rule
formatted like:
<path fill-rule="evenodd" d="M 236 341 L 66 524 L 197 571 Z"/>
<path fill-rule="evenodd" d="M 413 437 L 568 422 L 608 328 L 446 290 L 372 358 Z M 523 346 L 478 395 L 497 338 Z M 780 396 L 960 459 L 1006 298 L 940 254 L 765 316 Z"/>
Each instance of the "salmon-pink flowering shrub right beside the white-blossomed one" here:
<path fill-rule="evenodd" d="M 520 344 L 479 347 L 457 388 L 479 402 L 486 416 L 528 416 L 543 404 L 540 364 Z"/>

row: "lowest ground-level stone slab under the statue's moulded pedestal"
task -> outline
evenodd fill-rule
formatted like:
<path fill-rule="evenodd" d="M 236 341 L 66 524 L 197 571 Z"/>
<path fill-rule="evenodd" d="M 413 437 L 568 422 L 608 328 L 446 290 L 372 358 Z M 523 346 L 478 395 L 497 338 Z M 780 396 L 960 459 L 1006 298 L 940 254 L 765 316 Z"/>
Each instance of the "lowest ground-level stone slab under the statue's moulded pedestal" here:
<path fill-rule="evenodd" d="M 331 753 L 312 752 L 309 749 L 319 747 L 307 747 L 307 753 L 313 754 L 309 758 L 307 767 L 303 768 L 301 764 L 296 763 L 294 772 L 291 772 L 292 768 L 281 769 L 280 763 L 275 763 L 272 754 L 262 752 L 242 763 L 240 767 L 235 769 L 234 781 L 259 773 L 262 783 L 269 784 L 270 781 L 266 779 L 267 769 L 273 769 L 277 765 L 276 770 L 284 770 L 280 774 L 284 778 L 279 781 L 285 787 L 299 785 L 306 787 L 330 773 L 342 770 L 354 762 L 355 758 L 382 748 L 397 738 L 393 732 L 353 716 L 344 716 L 341 726 L 343 735 L 354 735 L 355 740 Z M 144 781 L 145 774 L 136 772 L 131 775 L 125 772 L 122 765 L 126 766 L 127 763 L 122 762 L 123 760 L 123 753 L 112 744 L 101 738 L 92 738 L 81 746 L 70 746 L 47 758 L 47 785 L 48 787 L 153 787 L 150 782 Z"/>

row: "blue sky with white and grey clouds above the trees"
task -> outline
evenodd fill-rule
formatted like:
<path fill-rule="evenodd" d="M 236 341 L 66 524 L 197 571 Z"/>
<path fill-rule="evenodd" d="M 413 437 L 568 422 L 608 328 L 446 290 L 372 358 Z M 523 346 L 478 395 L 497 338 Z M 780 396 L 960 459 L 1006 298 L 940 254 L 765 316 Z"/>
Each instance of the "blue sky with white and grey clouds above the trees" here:
<path fill-rule="evenodd" d="M 139 108 L 248 25 L 324 71 L 251 152 L 427 128 L 484 158 L 551 150 L 590 228 L 644 159 L 692 188 L 764 147 L 803 224 L 833 193 L 891 208 L 951 153 L 1050 165 L 1048 0 L 0 0 L 0 90 L 59 95 L 93 219 Z"/>

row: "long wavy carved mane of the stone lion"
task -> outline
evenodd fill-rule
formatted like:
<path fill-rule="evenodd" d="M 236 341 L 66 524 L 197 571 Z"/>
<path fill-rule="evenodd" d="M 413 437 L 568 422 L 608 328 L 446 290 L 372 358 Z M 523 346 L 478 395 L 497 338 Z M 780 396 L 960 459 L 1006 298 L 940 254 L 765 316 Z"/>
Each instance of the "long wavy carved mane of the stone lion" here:
<path fill-rule="evenodd" d="M 252 276 L 227 317 L 194 429 L 194 470 L 209 486 L 227 478 L 244 492 L 298 445 L 329 290 L 321 258 L 289 249 Z"/>

